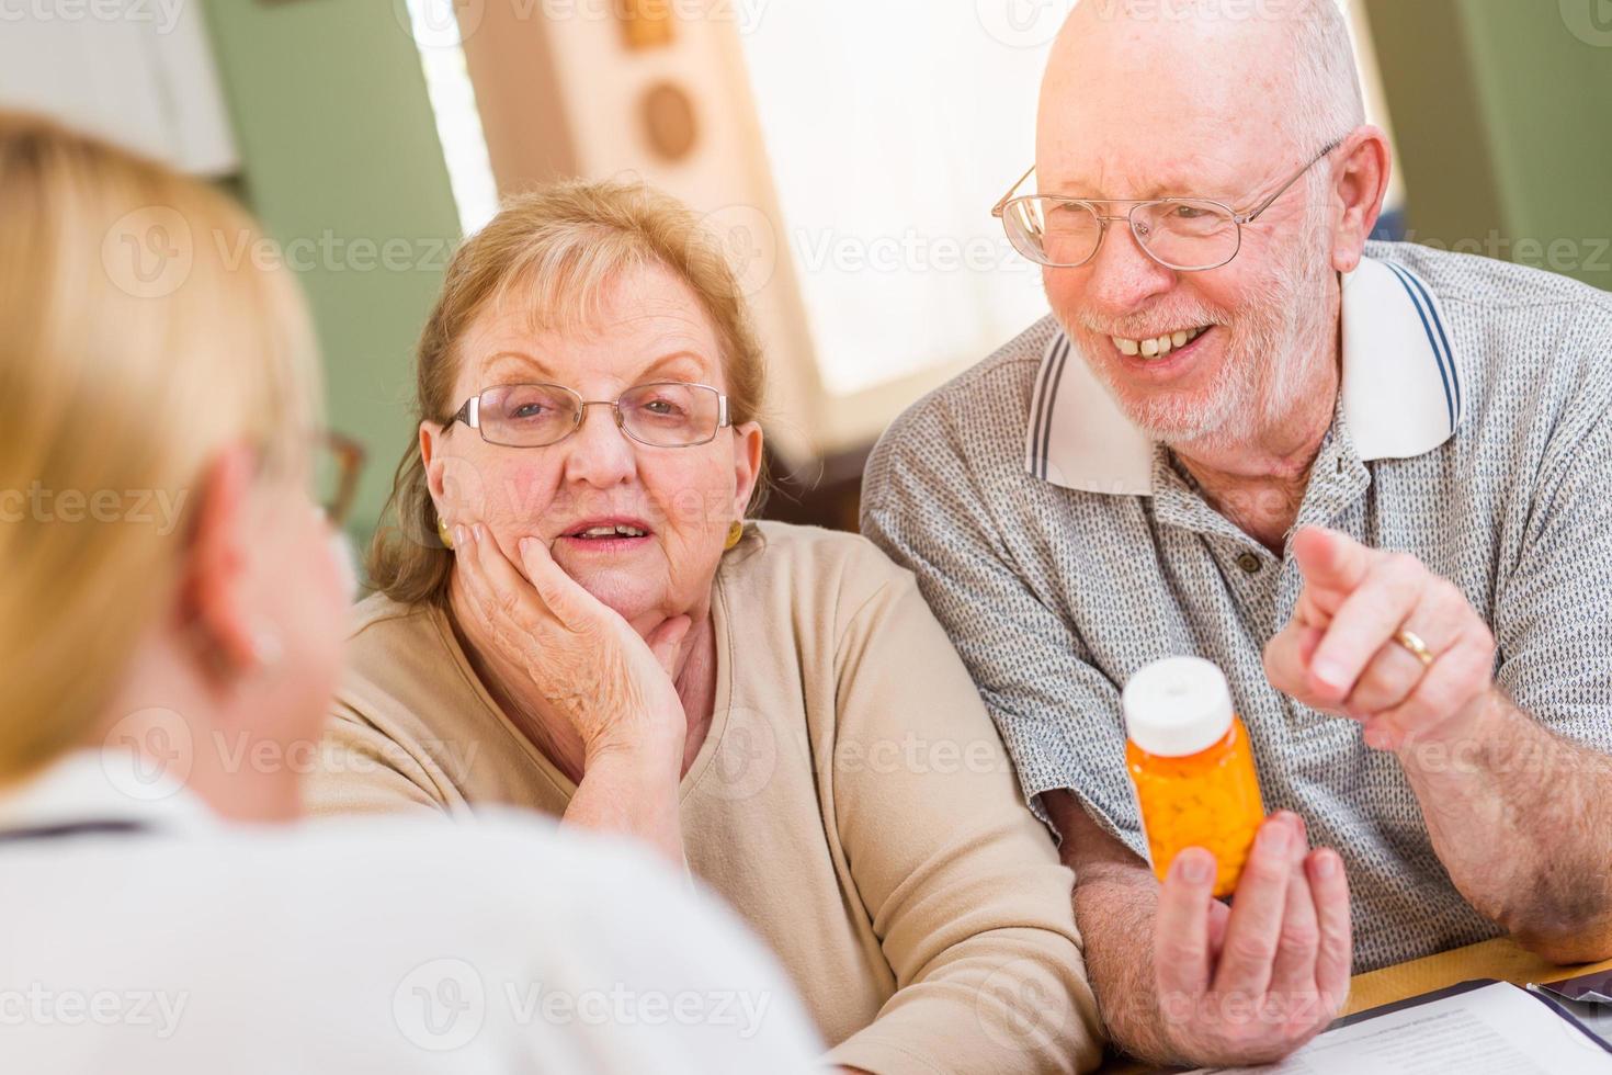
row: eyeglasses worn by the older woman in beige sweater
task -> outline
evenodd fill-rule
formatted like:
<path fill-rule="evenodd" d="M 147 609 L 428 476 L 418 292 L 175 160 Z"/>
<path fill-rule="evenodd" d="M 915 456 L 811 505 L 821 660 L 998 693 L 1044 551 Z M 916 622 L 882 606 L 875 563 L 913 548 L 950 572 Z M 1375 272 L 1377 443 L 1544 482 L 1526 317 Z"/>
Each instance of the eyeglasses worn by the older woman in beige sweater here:
<path fill-rule="evenodd" d="M 447 425 L 464 422 L 505 448 L 546 448 L 582 429 L 590 406 L 608 406 L 622 434 L 651 448 L 695 448 L 732 425 L 727 396 L 711 385 L 666 380 L 617 400 L 584 400 L 564 385 L 496 385 L 471 396 Z"/>

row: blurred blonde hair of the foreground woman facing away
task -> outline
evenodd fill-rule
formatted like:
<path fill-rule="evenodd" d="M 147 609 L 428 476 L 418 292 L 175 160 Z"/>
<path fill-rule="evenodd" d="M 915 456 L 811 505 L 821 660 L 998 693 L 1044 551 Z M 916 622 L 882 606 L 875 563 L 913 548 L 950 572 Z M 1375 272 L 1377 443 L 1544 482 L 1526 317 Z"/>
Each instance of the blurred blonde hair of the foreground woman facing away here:
<path fill-rule="evenodd" d="M 98 732 L 210 459 L 306 456 L 311 337 L 289 277 L 231 264 L 251 248 L 224 195 L 0 111 L 0 785 Z"/>

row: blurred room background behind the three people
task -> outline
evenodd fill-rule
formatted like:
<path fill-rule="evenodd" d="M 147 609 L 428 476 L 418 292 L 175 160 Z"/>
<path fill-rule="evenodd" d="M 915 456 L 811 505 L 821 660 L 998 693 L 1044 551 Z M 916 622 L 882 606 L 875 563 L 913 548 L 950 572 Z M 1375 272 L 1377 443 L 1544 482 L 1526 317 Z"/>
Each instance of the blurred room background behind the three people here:
<path fill-rule="evenodd" d="M 1225 0 L 1257 16 L 1270 0 Z M 1399 171 L 1383 234 L 1612 288 L 1612 0 L 1340 0 Z M 862 459 L 1045 314 L 991 205 L 1072 0 L 0 0 L 0 103 L 205 176 L 306 290 L 330 424 L 413 443 L 411 347 L 501 193 L 640 176 L 727 243 L 771 363 L 769 513 L 854 527 Z M 195 237 L 153 234 L 158 279 Z M 155 274 L 155 276 L 153 276 Z M 219 340 L 227 361 L 227 340 Z"/>

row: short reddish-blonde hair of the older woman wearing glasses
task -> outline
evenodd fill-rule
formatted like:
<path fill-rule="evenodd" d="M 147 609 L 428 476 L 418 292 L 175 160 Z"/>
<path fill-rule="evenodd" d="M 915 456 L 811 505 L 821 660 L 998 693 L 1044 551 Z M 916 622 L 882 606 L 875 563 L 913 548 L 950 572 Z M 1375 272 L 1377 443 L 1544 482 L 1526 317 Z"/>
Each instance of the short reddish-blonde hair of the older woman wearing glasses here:
<path fill-rule="evenodd" d="M 695 293 L 716 329 L 735 425 L 759 421 L 766 371 L 743 292 L 714 235 L 675 198 L 642 182 L 566 182 L 519 195 L 455 253 L 416 351 L 416 419 L 447 422 L 458 345 L 488 308 L 516 303 L 537 330 L 593 324 L 622 272 L 658 266 Z M 751 511 L 766 482 L 756 482 Z M 403 451 L 387 521 L 369 550 L 369 579 L 395 601 L 443 601 L 453 556 L 418 442 Z"/>

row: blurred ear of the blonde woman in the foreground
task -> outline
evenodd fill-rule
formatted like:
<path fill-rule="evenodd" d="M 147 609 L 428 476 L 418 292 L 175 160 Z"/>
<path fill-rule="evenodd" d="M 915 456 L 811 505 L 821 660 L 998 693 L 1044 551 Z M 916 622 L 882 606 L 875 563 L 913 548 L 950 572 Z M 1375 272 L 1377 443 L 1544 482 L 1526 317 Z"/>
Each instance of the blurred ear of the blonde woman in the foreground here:
<path fill-rule="evenodd" d="M 203 472 L 181 591 L 182 625 L 234 669 L 256 662 L 247 593 L 256 469 L 256 453 L 237 445 Z"/>

